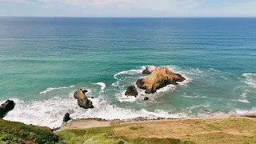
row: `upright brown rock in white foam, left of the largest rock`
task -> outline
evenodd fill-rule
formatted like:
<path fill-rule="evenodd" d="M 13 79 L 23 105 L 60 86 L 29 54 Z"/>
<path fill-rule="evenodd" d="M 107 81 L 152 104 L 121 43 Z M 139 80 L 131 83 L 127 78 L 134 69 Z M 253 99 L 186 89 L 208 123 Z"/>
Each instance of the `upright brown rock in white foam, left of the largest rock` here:
<path fill-rule="evenodd" d="M 85 109 L 94 108 L 93 102 L 86 97 L 86 94 L 82 92 L 82 89 L 78 89 L 76 92 L 74 92 L 74 98 L 78 99 L 78 106 Z"/>

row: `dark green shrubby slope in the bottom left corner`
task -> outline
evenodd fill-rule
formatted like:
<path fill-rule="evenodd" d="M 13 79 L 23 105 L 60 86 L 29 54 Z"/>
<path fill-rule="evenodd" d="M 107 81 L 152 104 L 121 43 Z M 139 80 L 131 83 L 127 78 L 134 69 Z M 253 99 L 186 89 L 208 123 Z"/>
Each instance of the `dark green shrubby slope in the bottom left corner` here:
<path fill-rule="evenodd" d="M 62 143 L 58 136 L 39 126 L 25 125 L 0 119 L 0 143 Z"/>

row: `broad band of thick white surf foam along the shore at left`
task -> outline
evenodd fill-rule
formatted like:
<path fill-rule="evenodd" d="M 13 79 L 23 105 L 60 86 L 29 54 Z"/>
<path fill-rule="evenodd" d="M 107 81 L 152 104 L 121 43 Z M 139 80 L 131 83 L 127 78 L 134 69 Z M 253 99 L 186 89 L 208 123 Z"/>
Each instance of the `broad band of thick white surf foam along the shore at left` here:
<path fill-rule="evenodd" d="M 72 93 L 73 94 L 73 93 Z M 70 94 L 70 95 L 72 95 Z M 61 126 L 62 118 L 67 112 L 71 118 L 104 118 L 104 119 L 131 119 L 131 118 L 180 118 L 183 114 L 168 114 L 164 110 L 133 110 L 122 109 L 118 106 L 110 105 L 108 102 L 94 98 L 93 109 L 85 110 L 78 106 L 77 101 L 69 98 L 52 98 L 44 101 L 24 102 L 14 99 L 16 103 L 14 110 L 11 110 L 4 119 L 16 122 L 24 122 L 38 126 L 49 126 L 54 128 Z"/>

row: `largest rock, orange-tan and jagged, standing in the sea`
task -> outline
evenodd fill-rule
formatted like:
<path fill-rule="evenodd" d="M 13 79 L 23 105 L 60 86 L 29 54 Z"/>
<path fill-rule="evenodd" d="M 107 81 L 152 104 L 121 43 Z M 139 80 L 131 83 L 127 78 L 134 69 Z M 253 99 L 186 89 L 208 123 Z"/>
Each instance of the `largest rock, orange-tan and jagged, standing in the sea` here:
<path fill-rule="evenodd" d="M 136 82 L 137 86 L 143 90 L 146 90 L 146 94 L 153 94 L 156 90 L 174 84 L 182 82 L 186 78 L 182 77 L 181 74 L 174 74 L 166 66 L 154 70 L 148 77 L 138 79 Z"/>

